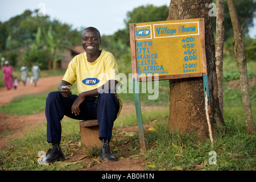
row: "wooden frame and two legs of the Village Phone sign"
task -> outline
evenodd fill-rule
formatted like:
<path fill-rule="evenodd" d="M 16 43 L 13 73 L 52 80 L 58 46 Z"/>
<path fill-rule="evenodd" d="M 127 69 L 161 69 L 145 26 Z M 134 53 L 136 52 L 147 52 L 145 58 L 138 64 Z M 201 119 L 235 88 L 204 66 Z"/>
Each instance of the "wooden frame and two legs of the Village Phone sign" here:
<path fill-rule="evenodd" d="M 167 20 L 162 21 L 162 23 L 187 23 L 187 22 L 199 22 L 199 31 L 200 31 L 200 57 L 202 63 L 202 71 L 200 73 L 188 73 L 188 74 L 168 74 L 168 75 L 159 75 L 157 78 L 159 80 L 171 80 L 177 78 L 190 78 L 190 77 L 203 77 L 204 83 L 204 98 L 205 98 L 205 112 L 208 115 L 209 113 L 209 88 L 208 88 L 208 75 L 207 75 L 207 59 L 205 54 L 205 25 L 204 25 L 204 18 L 197 18 L 197 19 L 183 19 L 183 20 Z M 153 22 L 147 22 L 153 23 Z M 157 22 L 159 23 L 159 22 Z M 143 23 L 144 24 L 144 23 Z M 137 125 L 139 131 L 139 140 L 141 144 L 141 150 L 146 151 L 146 143 L 144 139 L 144 130 L 143 130 L 143 121 L 142 121 L 142 113 L 141 113 L 141 102 L 139 99 L 139 92 L 138 92 L 138 82 L 147 81 L 146 79 L 138 75 L 138 66 L 137 66 L 137 58 L 136 58 L 136 32 L 135 32 L 135 23 L 129 24 L 130 28 L 130 48 L 131 48 L 131 70 L 133 72 L 133 89 L 134 89 L 134 100 L 135 100 L 135 109 L 137 114 Z M 152 39 L 152 36 L 151 36 Z M 197 39 L 199 41 L 199 39 Z M 199 43 L 198 43 L 199 46 Z M 199 58 L 200 61 L 200 58 Z M 154 75 L 151 75 L 150 81 L 154 80 Z M 208 122 L 209 125 L 209 122 Z M 210 129 L 210 125 L 209 125 Z M 211 133 L 211 132 L 210 132 Z"/>

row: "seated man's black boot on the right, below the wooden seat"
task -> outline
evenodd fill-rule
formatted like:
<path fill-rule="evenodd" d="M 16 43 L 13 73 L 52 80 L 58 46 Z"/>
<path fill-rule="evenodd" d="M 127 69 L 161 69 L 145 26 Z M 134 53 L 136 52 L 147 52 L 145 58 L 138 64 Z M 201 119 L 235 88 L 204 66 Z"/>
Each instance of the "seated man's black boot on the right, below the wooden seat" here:
<path fill-rule="evenodd" d="M 115 156 L 112 154 L 109 146 L 108 139 L 101 140 L 101 154 L 99 160 L 108 160 L 108 161 L 116 161 Z"/>

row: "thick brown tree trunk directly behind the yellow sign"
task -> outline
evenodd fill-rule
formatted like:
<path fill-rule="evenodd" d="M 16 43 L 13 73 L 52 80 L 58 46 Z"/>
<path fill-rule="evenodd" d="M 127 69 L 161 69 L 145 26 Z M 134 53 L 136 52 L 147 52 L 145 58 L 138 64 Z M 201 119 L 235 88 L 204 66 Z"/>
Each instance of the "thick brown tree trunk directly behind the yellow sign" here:
<path fill-rule="evenodd" d="M 167 20 L 204 18 L 205 52 L 209 82 L 209 120 L 214 131 L 215 124 L 224 125 L 218 101 L 218 84 L 215 64 L 212 17 L 208 8 L 210 0 L 172 0 Z M 203 77 L 170 80 L 170 115 L 168 128 L 179 133 L 195 133 L 204 142 L 209 138 L 205 113 Z"/>

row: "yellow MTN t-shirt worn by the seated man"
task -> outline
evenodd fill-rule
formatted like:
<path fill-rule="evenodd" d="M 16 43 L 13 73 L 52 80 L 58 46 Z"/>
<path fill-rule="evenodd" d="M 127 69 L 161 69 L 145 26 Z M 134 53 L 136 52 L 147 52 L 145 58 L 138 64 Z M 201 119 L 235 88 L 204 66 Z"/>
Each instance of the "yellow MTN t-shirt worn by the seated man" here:
<path fill-rule="evenodd" d="M 101 51 L 101 55 L 93 62 L 87 60 L 86 52 L 75 56 L 68 64 L 68 69 L 63 77 L 71 85 L 77 81 L 77 91 L 82 93 L 104 85 L 108 80 L 120 81 L 118 65 L 112 53 Z M 118 115 L 122 109 L 122 99 L 115 92 L 120 104 Z"/>

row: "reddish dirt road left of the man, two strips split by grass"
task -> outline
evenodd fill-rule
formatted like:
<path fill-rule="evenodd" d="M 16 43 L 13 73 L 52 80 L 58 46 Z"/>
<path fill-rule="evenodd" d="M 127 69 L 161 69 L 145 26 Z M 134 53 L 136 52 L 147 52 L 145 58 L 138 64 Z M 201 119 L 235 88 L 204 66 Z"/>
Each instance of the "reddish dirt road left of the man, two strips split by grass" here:
<path fill-rule="evenodd" d="M 46 92 L 55 86 L 57 89 L 57 85 L 59 85 L 62 78 L 63 76 L 39 78 L 37 86 L 30 83 L 24 86 L 21 82 L 19 82 L 16 90 L 0 88 L 0 106 L 9 103 L 15 97 Z M 40 123 L 45 121 L 46 119 L 44 113 L 22 116 L 0 113 L 0 133 L 3 131 L 8 131 L 8 133 L 11 134 L 8 137 L 0 138 L 0 148 L 5 146 L 9 139 L 21 137 L 25 131 L 38 126 Z"/>

